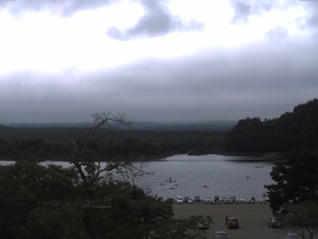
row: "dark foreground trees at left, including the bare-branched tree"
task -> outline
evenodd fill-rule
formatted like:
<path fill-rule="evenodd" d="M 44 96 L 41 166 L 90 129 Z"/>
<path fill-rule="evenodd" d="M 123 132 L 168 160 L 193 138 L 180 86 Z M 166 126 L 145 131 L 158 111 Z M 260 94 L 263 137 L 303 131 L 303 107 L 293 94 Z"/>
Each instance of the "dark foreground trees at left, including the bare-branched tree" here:
<path fill-rule="evenodd" d="M 173 219 L 173 200 L 161 202 L 133 183 L 147 173 L 141 167 L 124 158 L 101 167 L 88 146 L 96 130 L 129 121 L 122 114 L 93 117 L 95 126 L 83 140 L 51 143 L 69 153 L 70 167 L 36 160 L 0 166 L 0 238 L 204 239 L 201 217 Z"/>

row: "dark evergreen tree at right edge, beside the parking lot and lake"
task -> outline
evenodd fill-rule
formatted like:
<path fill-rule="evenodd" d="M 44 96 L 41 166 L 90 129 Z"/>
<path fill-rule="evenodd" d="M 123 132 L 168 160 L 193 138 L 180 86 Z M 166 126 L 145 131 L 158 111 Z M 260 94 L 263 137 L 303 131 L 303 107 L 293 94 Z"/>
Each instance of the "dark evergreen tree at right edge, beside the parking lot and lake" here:
<path fill-rule="evenodd" d="M 275 214 L 289 204 L 318 203 L 318 153 L 292 152 L 287 162 L 275 163 L 270 173 L 276 184 L 269 190 L 270 207 Z"/>

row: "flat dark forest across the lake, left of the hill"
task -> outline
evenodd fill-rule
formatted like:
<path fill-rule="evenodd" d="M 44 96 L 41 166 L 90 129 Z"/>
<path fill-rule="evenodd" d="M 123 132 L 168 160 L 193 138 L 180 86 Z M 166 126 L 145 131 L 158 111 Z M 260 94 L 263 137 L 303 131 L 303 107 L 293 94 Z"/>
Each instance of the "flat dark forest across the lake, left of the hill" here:
<path fill-rule="evenodd" d="M 91 128 L 81 127 L 8 127 L 0 126 L 0 158 L 20 159 L 65 157 L 58 145 L 81 140 Z M 158 158 L 187 153 L 207 154 L 223 149 L 225 131 L 99 129 L 89 148 L 101 158 L 129 156 Z"/>

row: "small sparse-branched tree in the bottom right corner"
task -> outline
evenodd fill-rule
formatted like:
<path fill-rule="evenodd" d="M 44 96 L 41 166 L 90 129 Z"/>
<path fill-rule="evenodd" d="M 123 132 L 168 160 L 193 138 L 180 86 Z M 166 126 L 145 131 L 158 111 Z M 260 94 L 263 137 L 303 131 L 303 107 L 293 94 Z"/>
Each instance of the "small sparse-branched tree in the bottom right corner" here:
<path fill-rule="evenodd" d="M 287 208 L 283 224 L 303 239 L 313 239 L 318 233 L 318 205 L 299 203 Z"/>

